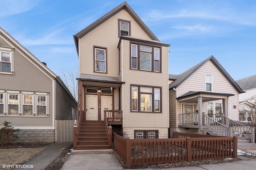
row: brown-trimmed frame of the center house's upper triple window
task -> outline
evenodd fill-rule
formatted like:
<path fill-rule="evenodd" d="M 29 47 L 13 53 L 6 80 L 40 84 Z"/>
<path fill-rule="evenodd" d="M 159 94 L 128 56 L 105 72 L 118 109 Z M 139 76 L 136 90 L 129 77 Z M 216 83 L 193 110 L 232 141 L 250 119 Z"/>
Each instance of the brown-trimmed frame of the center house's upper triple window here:
<path fill-rule="evenodd" d="M 132 49 L 132 45 L 136 46 L 136 56 L 134 55 L 134 51 Z M 151 51 L 145 51 L 141 50 L 141 46 L 147 46 L 151 47 Z M 158 49 L 159 53 L 158 55 L 155 55 L 155 50 Z M 142 69 L 140 66 L 140 57 L 141 53 L 144 54 L 150 54 L 151 59 L 151 65 L 150 65 L 150 70 Z M 158 57 L 158 59 L 156 58 Z M 133 66 L 133 60 L 136 58 L 136 68 Z M 158 70 L 155 70 L 155 63 L 158 62 Z M 151 44 L 151 43 L 142 43 L 139 41 L 130 41 L 130 70 L 141 70 L 141 71 L 148 71 L 148 72 L 162 72 L 162 46 L 156 45 L 156 44 Z"/>

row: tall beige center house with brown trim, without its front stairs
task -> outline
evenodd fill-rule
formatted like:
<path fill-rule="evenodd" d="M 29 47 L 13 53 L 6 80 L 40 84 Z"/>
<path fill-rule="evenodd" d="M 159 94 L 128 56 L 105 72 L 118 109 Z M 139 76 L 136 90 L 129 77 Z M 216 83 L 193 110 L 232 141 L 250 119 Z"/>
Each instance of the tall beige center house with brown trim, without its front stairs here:
<path fill-rule="evenodd" d="M 167 138 L 170 45 L 160 42 L 126 2 L 74 35 L 74 41 L 82 121 L 101 122 L 104 110 L 118 110 L 122 120 L 108 124 L 119 124 L 124 137 Z"/>

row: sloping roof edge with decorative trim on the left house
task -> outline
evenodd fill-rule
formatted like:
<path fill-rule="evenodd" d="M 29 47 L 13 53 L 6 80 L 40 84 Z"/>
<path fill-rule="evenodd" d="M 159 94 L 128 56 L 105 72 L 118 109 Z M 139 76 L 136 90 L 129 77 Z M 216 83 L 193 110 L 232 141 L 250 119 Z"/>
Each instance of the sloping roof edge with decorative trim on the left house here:
<path fill-rule="evenodd" d="M 64 82 L 62 82 L 61 78 L 56 75 L 50 68 L 48 68 L 45 64 L 43 64 L 38 58 L 36 58 L 30 51 L 28 51 L 25 47 L 23 47 L 16 39 L 14 39 L 10 34 L 8 34 L 2 27 L 0 27 L 0 35 L 4 38 L 5 41 L 11 43 L 17 51 L 22 53 L 28 60 L 32 61 L 42 72 L 45 72 L 52 79 L 56 79 L 62 87 L 68 92 L 68 94 L 72 97 L 72 99 L 76 102 L 74 96 L 70 93 Z M 77 102 L 76 102 L 77 103 Z"/>

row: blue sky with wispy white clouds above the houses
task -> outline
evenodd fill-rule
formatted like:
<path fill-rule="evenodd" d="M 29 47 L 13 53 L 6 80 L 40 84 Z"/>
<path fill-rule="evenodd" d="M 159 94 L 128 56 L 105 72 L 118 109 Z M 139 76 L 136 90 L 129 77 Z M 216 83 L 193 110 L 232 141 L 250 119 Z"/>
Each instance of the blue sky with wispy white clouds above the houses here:
<path fill-rule="evenodd" d="M 1 0 L 0 27 L 56 74 L 78 68 L 73 35 L 124 0 Z M 239 80 L 256 74 L 256 1 L 126 0 L 169 47 L 169 73 L 210 55 Z"/>

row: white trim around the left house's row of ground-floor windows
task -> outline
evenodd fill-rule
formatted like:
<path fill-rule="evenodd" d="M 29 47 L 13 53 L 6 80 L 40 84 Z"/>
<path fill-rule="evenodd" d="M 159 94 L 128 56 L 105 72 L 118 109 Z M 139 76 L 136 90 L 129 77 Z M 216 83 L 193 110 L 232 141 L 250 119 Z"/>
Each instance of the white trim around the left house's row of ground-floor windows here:
<path fill-rule="evenodd" d="M 14 90 L 0 90 L 1 94 L 4 94 L 4 114 L 0 116 L 19 116 L 19 117 L 49 117 L 49 93 L 44 92 L 24 92 L 24 91 L 14 91 Z M 18 95 L 18 115 L 9 115 L 9 94 Z M 32 115 L 23 114 L 23 94 L 32 95 Z M 37 96 L 46 96 L 46 115 L 37 115 Z"/>

